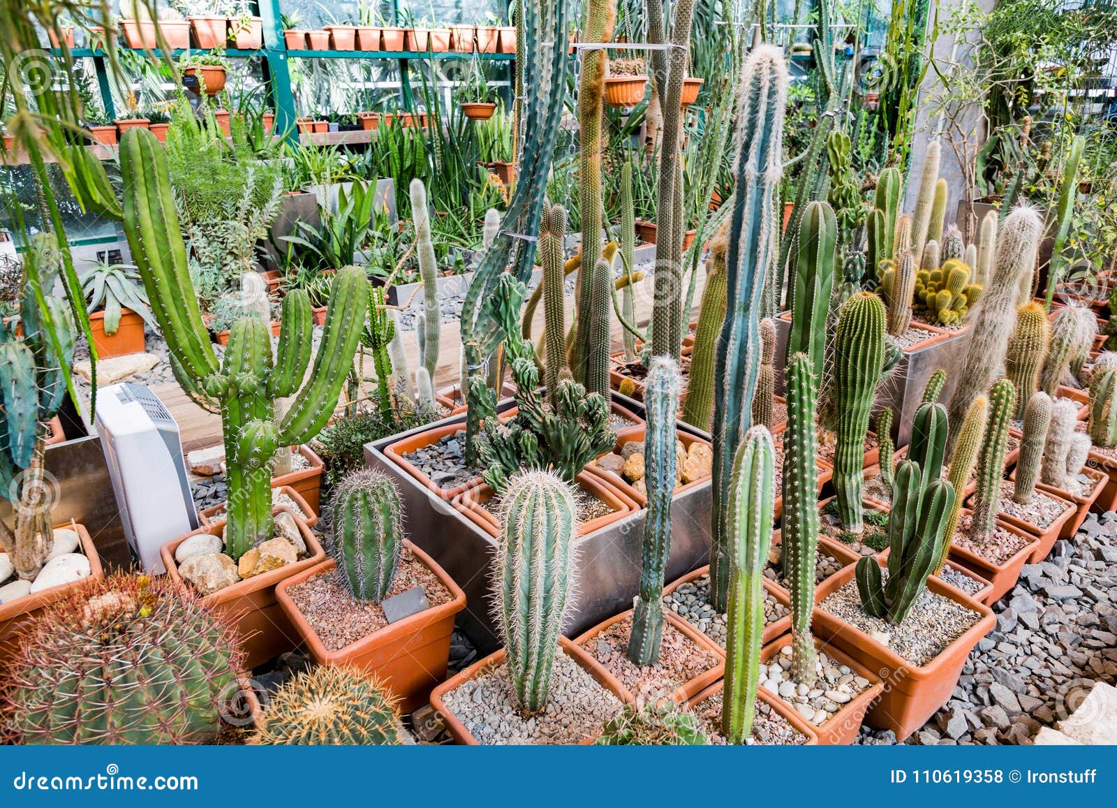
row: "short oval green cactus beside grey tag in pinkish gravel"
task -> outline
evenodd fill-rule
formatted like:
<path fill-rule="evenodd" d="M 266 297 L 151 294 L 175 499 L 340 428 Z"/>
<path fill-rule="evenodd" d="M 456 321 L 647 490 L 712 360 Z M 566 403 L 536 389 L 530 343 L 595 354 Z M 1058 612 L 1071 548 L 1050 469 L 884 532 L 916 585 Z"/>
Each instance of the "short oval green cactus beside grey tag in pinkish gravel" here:
<path fill-rule="evenodd" d="M 379 603 L 388 597 L 403 554 L 403 512 L 391 477 L 359 468 L 334 489 L 331 554 L 350 595 Z"/>

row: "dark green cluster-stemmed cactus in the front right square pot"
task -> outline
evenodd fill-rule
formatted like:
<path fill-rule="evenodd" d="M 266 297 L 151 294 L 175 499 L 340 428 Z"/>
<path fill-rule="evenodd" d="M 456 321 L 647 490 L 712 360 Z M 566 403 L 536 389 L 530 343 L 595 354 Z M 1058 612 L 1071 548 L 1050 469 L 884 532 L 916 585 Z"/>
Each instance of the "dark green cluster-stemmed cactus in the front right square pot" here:
<path fill-rule="evenodd" d="M 954 486 L 934 479 L 922 489 L 923 472 L 913 460 L 896 466 L 891 511 L 888 514 L 888 580 L 872 557 L 857 562 L 861 607 L 873 617 L 898 626 L 927 586 L 927 576 L 943 551 L 946 524 L 954 507 Z M 920 491 L 923 493 L 920 493 Z"/>

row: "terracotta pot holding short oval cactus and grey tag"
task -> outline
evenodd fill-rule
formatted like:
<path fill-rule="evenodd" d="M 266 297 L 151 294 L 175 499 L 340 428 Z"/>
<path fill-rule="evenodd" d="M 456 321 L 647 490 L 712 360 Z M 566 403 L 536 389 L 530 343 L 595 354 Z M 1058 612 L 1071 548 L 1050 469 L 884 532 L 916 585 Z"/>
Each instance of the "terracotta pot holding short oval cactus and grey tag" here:
<path fill-rule="evenodd" d="M 289 595 L 289 590 L 303 581 L 336 569 L 332 559 L 283 581 L 276 587 L 276 599 L 315 664 L 349 664 L 373 674 L 388 685 L 393 695 L 402 700 L 402 711 L 410 713 L 427 704 L 431 690 L 446 678 L 454 616 L 466 608 L 466 593 L 430 555 L 411 542 L 404 544 L 450 591 L 449 602 L 393 622 L 332 652 L 303 617 Z"/>

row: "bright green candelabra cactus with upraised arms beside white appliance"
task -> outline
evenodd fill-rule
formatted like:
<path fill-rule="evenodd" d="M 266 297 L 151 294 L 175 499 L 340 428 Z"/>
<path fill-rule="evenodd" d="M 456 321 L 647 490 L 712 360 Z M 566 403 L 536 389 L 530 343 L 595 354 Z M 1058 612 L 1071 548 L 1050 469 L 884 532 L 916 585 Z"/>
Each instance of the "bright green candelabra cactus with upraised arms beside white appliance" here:
<path fill-rule="evenodd" d="M 140 269 L 152 311 L 166 339 L 175 378 L 187 393 L 221 412 L 228 463 L 226 548 L 240 558 L 275 535 L 271 522 L 269 460 L 280 446 L 303 444 L 330 420 L 353 363 L 364 321 L 369 282 L 363 269 L 341 269 L 331 285 L 326 326 L 304 383 L 311 343 L 309 300 L 305 293 L 284 298 L 279 349 L 271 358 L 271 334 L 255 317 L 238 320 L 229 334 L 225 362 L 217 355 L 190 283 L 187 250 L 179 228 L 166 155 L 155 136 L 133 129 L 121 139 L 124 177 L 124 231 Z M 294 396 L 279 424 L 273 401 Z"/>

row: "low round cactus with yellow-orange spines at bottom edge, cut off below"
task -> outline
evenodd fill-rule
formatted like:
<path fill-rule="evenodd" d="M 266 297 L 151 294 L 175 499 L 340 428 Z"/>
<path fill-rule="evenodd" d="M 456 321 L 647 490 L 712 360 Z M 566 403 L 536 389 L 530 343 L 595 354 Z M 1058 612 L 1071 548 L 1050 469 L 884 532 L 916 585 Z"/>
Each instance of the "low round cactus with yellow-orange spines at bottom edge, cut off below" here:
<path fill-rule="evenodd" d="M 285 745 L 399 745 L 395 701 L 383 684 L 351 665 L 316 665 L 269 698 L 256 740 Z"/>

